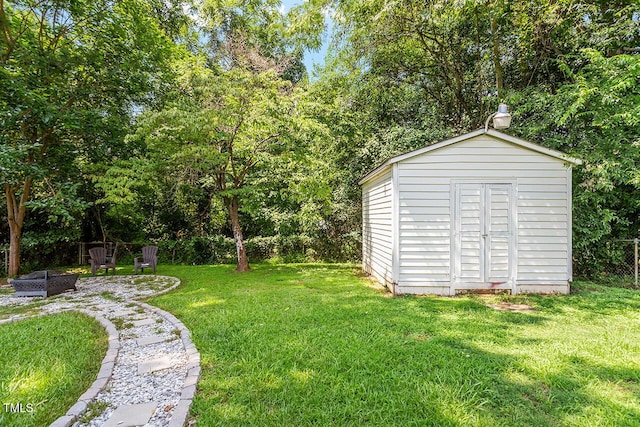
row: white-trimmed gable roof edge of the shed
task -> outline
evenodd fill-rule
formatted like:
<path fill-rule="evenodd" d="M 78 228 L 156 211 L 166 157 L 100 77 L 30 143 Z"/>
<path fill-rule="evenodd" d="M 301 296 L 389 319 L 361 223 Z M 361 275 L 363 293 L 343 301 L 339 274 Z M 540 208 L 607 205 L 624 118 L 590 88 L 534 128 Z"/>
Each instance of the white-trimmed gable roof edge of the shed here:
<path fill-rule="evenodd" d="M 367 175 L 365 175 L 358 182 L 358 184 L 360 185 L 364 184 L 365 182 L 369 181 L 371 178 L 379 175 L 380 173 L 384 172 L 386 169 L 390 168 L 391 165 L 393 165 L 394 163 L 398 163 L 403 160 L 410 159 L 412 157 L 419 156 L 419 155 L 428 153 L 430 151 L 438 150 L 440 148 L 447 147 L 447 146 L 456 144 L 458 142 L 466 141 L 471 138 L 475 138 L 477 136 L 484 135 L 484 134 L 492 136 L 498 140 L 502 140 L 504 142 L 511 143 L 513 145 L 526 148 L 528 150 L 531 150 L 540 154 L 544 154 L 549 157 L 553 157 L 563 162 L 571 163 L 574 165 L 582 164 L 582 160 L 567 156 L 566 154 L 561 153 L 560 151 L 552 150 L 550 148 L 543 147 L 539 144 L 534 144 L 533 142 L 525 141 L 524 139 L 516 138 L 515 136 L 507 135 L 505 133 L 498 132 L 493 129 L 489 129 L 487 131 L 485 131 L 484 129 L 478 129 L 477 131 L 467 133 L 465 135 L 460 135 L 455 138 L 447 139 L 445 141 L 441 141 L 436 144 L 432 144 L 427 147 L 420 148 L 418 150 L 410 151 L 408 153 L 404 153 L 404 154 L 400 154 L 398 156 L 392 157 L 386 160 L 384 163 L 382 163 L 380 166 L 378 166 L 371 172 L 369 172 Z"/>

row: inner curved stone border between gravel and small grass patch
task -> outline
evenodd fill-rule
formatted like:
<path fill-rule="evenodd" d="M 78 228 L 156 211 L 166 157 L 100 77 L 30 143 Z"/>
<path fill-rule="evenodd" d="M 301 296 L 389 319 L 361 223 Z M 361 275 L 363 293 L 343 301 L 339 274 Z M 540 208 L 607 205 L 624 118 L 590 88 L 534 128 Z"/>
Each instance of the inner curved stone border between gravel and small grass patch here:
<path fill-rule="evenodd" d="M 91 387 L 78 398 L 75 405 L 69 408 L 65 415 L 55 420 L 49 427 L 70 427 L 78 420 L 80 415 L 87 410 L 89 403 L 107 386 L 113 373 L 116 358 L 118 357 L 118 350 L 120 350 L 120 335 L 115 325 L 111 323 L 109 319 L 89 310 L 75 311 L 89 315 L 100 322 L 109 336 L 109 347 L 107 348 L 107 354 L 104 359 L 102 359 L 102 366 L 98 372 L 98 377 L 93 384 L 91 384 Z"/>

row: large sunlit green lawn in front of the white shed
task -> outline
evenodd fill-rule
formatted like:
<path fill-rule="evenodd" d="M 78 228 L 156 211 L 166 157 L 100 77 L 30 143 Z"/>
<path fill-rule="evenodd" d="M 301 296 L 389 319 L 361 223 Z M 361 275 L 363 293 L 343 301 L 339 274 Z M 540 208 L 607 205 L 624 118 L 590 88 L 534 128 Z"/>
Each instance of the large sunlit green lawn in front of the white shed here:
<path fill-rule="evenodd" d="M 389 298 L 349 265 L 162 266 L 201 426 L 637 426 L 640 293 Z M 487 303 L 525 303 L 529 312 Z"/>

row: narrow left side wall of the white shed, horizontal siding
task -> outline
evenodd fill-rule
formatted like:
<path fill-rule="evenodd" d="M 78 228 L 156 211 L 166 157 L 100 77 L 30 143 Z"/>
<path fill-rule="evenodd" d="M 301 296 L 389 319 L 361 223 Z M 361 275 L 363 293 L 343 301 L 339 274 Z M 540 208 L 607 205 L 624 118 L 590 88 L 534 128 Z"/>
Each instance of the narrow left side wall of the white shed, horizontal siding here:
<path fill-rule="evenodd" d="M 362 187 L 362 264 L 365 272 L 391 284 L 393 237 L 391 172 Z"/>

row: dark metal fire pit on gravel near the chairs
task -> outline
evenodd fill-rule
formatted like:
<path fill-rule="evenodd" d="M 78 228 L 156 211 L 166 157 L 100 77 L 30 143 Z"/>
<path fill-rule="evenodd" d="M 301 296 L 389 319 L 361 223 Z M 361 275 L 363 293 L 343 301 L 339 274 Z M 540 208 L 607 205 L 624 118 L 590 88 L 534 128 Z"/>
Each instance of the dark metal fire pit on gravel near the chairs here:
<path fill-rule="evenodd" d="M 77 274 L 67 274 L 56 270 L 34 271 L 8 282 L 16 291 L 17 297 L 49 297 L 66 290 L 77 290 Z"/>

